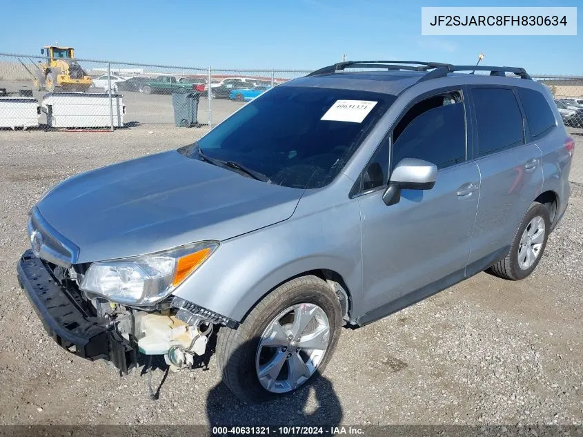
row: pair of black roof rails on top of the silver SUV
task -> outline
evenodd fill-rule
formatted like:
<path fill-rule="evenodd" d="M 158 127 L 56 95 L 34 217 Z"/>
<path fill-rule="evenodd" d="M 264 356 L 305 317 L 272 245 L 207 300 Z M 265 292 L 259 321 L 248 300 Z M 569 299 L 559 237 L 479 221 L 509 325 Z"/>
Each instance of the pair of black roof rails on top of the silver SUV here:
<path fill-rule="evenodd" d="M 410 64 L 410 65 L 403 65 Z M 443 64 L 441 62 L 419 62 L 419 61 L 346 61 L 333 64 L 319 70 L 311 72 L 308 76 L 326 75 L 345 68 L 386 68 L 387 70 L 413 70 L 423 71 L 426 75 L 419 79 L 419 82 L 438 77 L 446 77 L 448 73 L 455 71 L 489 71 L 491 76 L 505 76 L 506 72 L 512 72 L 522 79 L 532 80 L 524 68 L 518 67 L 494 67 L 494 66 L 455 66 Z M 431 71 L 429 71 L 431 70 Z"/>

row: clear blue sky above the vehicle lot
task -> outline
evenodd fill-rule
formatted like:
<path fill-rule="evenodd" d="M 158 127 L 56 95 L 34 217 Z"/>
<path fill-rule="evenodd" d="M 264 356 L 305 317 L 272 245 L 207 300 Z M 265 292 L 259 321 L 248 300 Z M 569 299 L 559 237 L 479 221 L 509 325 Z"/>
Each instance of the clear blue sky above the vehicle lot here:
<path fill-rule="evenodd" d="M 38 0 L 37 0 L 38 1 Z M 581 0 L 1 0 L 0 52 L 59 41 L 77 57 L 216 68 L 314 69 L 419 59 L 583 74 Z M 580 6 L 577 36 L 423 37 L 421 6 Z M 13 19 L 9 19 L 13 17 Z"/>

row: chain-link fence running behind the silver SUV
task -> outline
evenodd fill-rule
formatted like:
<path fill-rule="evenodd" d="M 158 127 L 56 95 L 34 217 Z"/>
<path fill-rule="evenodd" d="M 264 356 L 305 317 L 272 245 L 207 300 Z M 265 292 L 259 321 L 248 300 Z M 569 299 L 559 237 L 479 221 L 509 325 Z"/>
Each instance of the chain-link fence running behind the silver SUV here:
<path fill-rule="evenodd" d="M 72 53 L 63 50 L 51 55 L 0 53 L 0 128 L 173 124 L 208 129 L 246 101 L 310 72 L 71 59 Z M 567 130 L 577 146 L 583 145 L 583 76 L 533 79 L 551 90 Z M 583 153 L 575 153 L 571 180 L 583 186 Z"/>

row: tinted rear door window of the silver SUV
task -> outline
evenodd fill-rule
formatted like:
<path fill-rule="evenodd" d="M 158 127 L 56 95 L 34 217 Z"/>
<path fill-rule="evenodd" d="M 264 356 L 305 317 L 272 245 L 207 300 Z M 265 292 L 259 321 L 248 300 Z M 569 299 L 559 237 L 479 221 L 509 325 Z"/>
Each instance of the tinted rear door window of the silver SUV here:
<path fill-rule="evenodd" d="M 524 144 L 522 113 L 512 90 L 474 88 L 479 154 Z"/>

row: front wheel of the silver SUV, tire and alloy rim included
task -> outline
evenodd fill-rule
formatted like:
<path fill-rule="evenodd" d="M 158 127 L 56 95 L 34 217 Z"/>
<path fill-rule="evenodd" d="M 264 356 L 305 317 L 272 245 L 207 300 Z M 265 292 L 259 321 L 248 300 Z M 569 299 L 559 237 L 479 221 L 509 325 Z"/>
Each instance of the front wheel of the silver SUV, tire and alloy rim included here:
<path fill-rule="evenodd" d="M 266 295 L 236 330 L 219 330 L 223 382 L 244 402 L 293 393 L 324 371 L 341 327 L 340 302 L 324 280 L 290 280 Z"/>

